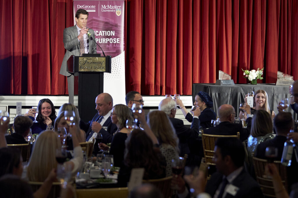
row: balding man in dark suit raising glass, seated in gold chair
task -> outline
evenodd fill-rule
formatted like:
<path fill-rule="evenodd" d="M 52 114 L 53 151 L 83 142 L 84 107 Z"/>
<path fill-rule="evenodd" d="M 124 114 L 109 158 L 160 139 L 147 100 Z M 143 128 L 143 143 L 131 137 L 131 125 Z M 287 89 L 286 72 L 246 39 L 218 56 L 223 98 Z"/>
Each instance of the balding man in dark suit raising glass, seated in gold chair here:
<path fill-rule="evenodd" d="M 218 117 L 221 120 L 217 126 L 204 130 L 205 134 L 211 135 L 236 135 L 240 132 L 240 140 L 247 140 L 252 126 L 252 115 L 250 114 L 250 107 L 246 104 L 241 107 L 247 113 L 247 128 L 243 128 L 242 124 L 235 122 L 235 109 L 232 105 L 223 104 L 218 108 Z"/>

